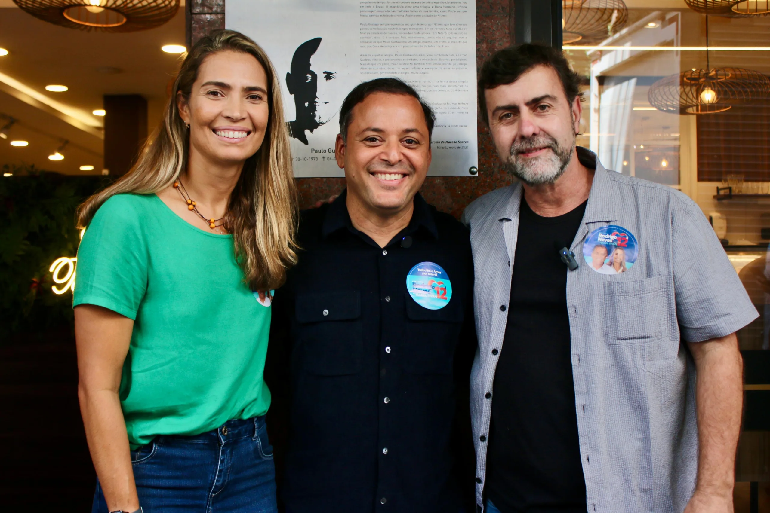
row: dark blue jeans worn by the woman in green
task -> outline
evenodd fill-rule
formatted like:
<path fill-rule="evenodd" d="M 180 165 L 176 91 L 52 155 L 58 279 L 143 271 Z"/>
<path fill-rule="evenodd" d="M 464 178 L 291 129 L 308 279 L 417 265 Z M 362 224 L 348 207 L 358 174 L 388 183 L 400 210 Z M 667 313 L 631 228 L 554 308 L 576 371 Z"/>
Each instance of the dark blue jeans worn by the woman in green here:
<path fill-rule="evenodd" d="M 145 513 L 277 513 L 265 418 L 227 421 L 203 435 L 162 435 L 131 452 Z M 96 483 L 92 513 L 109 509 Z"/>

